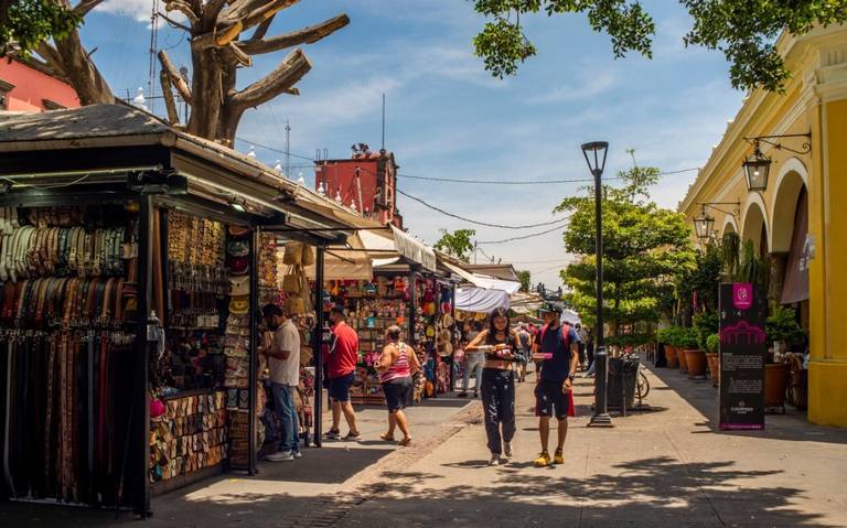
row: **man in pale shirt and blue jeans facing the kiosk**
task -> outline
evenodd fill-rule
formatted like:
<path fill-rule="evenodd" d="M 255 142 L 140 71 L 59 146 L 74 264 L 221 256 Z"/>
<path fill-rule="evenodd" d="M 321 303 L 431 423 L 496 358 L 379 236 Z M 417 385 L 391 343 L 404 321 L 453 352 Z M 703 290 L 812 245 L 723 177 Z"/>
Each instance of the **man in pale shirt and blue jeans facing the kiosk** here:
<path fill-rule="evenodd" d="M 294 322 L 276 304 L 267 304 L 261 314 L 274 332 L 270 345 L 261 347 L 260 353 L 268 356 L 274 408 L 282 422 L 279 451 L 268 455 L 267 460 L 290 462 L 302 456 L 294 402 L 294 391 L 300 384 L 300 333 Z"/>

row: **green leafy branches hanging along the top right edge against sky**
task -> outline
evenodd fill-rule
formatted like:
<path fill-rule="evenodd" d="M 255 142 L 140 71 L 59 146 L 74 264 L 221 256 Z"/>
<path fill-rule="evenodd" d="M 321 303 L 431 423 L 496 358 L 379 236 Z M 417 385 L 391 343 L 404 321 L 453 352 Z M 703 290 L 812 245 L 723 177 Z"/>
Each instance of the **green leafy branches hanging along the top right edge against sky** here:
<path fill-rule="evenodd" d="M 587 15 L 594 31 L 607 33 L 615 58 L 636 52 L 652 58 L 656 24 L 637 0 L 472 0 L 486 17 L 473 40 L 485 69 L 494 76 L 514 75 L 518 64 L 536 54 L 524 33 L 521 15 L 544 11 L 548 17 Z M 847 0 L 678 0 L 694 24 L 686 46 L 719 50 L 730 66 L 735 88 L 780 90 L 791 74 L 774 45 L 786 31 L 807 33 L 816 24 L 847 21 Z"/>

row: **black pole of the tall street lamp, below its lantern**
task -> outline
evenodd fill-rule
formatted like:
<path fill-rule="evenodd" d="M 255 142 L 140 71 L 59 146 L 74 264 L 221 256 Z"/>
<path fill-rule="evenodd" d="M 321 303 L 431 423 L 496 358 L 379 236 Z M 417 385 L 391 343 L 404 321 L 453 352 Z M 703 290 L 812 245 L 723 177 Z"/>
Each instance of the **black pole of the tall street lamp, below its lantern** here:
<path fill-rule="evenodd" d="M 602 215 L 602 188 L 600 176 L 603 172 L 600 169 L 592 171 L 594 174 L 594 256 L 597 258 L 597 274 L 594 282 L 597 284 L 597 324 L 594 325 L 596 347 L 594 364 L 594 416 L 591 417 L 589 425 L 612 425 L 612 418 L 607 410 L 607 381 L 609 379 L 609 362 L 603 346 L 603 215 Z"/>

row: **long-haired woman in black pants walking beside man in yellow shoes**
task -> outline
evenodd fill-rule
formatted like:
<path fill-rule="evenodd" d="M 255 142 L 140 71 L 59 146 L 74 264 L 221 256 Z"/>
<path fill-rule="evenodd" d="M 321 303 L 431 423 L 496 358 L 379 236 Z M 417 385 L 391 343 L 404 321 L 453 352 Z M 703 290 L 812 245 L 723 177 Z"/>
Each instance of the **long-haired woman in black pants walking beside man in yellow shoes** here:
<path fill-rule="evenodd" d="M 482 369 L 482 405 L 485 410 L 485 435 L 491 452 L 489 465 L 512 459 L 515 437 L 515 360 L 519 340 L 510 326 L 508 312 L 497 308 L 490 326 L 467 349 L 485 354 Z"/>

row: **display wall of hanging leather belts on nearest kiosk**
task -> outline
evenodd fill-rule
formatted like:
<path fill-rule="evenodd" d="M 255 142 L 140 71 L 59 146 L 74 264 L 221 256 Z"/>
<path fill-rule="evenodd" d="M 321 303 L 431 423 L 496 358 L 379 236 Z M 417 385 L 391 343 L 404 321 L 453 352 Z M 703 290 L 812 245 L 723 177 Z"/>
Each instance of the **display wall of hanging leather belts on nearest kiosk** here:
<path fill-rule="evenodd" d="M 126 502 L 136 229 L 122 205 L 0 211 L 0 487 L 9 497 Z"/>

